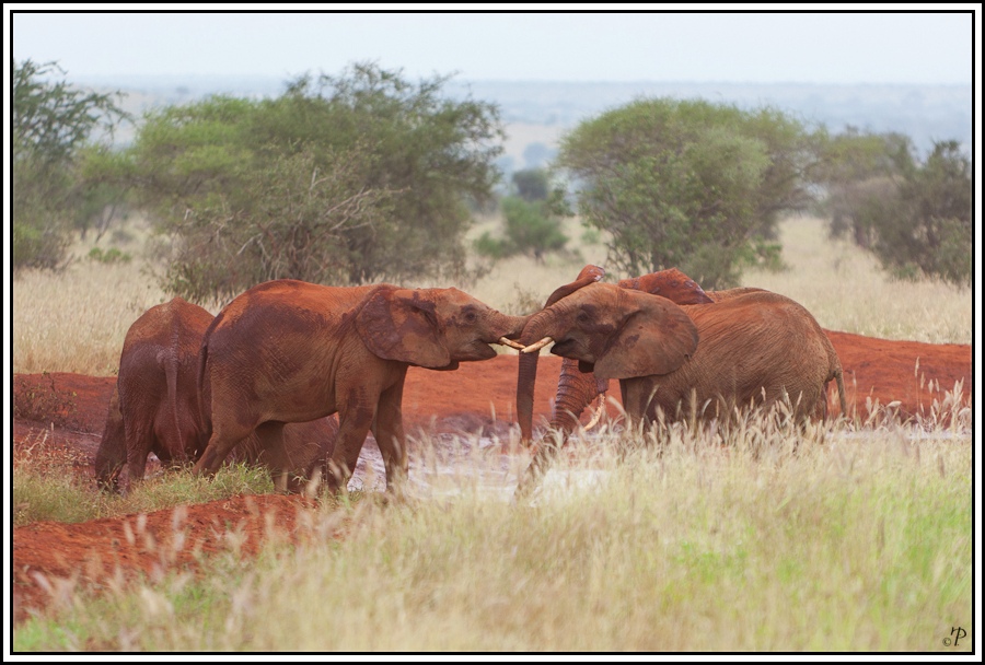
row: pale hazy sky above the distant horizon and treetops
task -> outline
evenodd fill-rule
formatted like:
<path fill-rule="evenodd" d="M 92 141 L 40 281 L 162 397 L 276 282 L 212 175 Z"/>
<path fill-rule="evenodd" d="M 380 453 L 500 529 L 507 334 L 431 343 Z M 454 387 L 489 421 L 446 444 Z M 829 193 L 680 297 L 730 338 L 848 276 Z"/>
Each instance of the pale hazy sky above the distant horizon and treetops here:
<path fill-rule="evenodd" d="M 742 5 L 750 8 L 746 13 L 283 12 L 309 7 L 290 3 L 250 5 L 278 13 L 227 13 L 225 5 L 210 4 L 166 7 L 216 8 L 218 13 L 66 13 L 80 7 L 102 12 L 120 5 L 4 4 L 13 57 L 57 60 L 69 79 L 115 73 L 289 78 L 305 71 L 338 73 L 350 62 L 374 60 L 414 78 L 457 72 L 456 79 L 465 81 L 752 83 L 971 83 L 972 63 L 981 61 L 973 36 L 981 30 L 980 14 L 940 12 L 969 11 L 977 3 L 917 5 L 937 13 L 763 13 L 756 11 L 760 4 Z M 48 13 L 21 13 L 37 8 Z"/>

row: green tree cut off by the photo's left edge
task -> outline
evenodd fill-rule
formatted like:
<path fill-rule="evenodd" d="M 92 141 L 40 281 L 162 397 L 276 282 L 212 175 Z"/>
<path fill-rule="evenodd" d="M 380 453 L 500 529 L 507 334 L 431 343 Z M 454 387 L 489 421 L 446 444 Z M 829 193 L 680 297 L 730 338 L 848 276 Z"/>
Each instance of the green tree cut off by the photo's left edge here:
<path fill-rule="evenodd" d="M 56 62 L 14 62 L 13 72 L 13 266 L 57 269 L 63 265 L 72 223 L 96 194 L 79 173 L 94 131 L 112 135 L 127 117 L 119 93 L 99 94 L 66 80 Z"/>

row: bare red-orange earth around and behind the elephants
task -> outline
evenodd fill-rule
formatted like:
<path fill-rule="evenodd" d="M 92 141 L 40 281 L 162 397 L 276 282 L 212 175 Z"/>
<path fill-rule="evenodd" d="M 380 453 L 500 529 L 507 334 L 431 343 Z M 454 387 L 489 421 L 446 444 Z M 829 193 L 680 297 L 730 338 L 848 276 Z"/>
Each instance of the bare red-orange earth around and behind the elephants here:
<path fill-rule="evenodd" d="M 867 399 L 887 405 L 900 401 L 901 418 L 929 415 L 935 399 L 963 382 L 963 399 L 971 404 L 972 362 L 967 345 L 926 345 L 828 332 L 845 372 L 849 410 L 865 417 Z M 918 364 L 917 364 L 918 362 Z M 546 418 L 560 371 L 560 359 L 544 357 L 540 364 L 535 417 Z M 500 355 L 482 363 L 463 363 L 455 372 L 412 368 L 404 390 L 408 431 L 482 432 L 507 440 L 514 418 L 517 359 Z M 65 427 L 30 419 L 13 421 L 13 464 L 30 456 L 32 464 L 71 469 L 92 481 L 92 460 L 99 446 L 115 377 L 55 373 L 15 375 L 14 396 L 34 393 L 35 401 L 53 395 L 49 405 Z M 615 386 L 613 386 L 615 387 Z M 54 389 L 53 389 L 54 388 Z M 828 402 L 837 412 L 837 397 Z M 70 404 L 59 395 L 72 395 Z M 618 397 L 618 390 L 610 390 Z M 18 404 L 21 408 L 21 404 Z M 615 415 L 615 408 L 612 409 Z M 47 431 L 45 431 L 47 430 Z M 149 467 L 149 472 L 153 468 Z M 92 482 L 92 491 L 97 491 Z M 247 495 L 127 515 L 84 524 L 38 522 L 13 530 L 12 616 L 19 622 L 43 609 L 73 584 L 112 586 L 136 571 L 149 575 L 177 565 L 194 570 L 200 557 L 229 551 L 231 538 L 243 555 L 257 551 L 264 538 L 297 538 L 294 526 L 310 500 L 283 495 Z M 16 506 L 13 506 L 16 510 Z M 277 525 L 276 528 L 274 525 Z M 225 525 L 236 525 L 227 535 Z M 174 534 L 184 534 L 182 547 Z M 72 582 L 66 582 L 71 580 Z"/>

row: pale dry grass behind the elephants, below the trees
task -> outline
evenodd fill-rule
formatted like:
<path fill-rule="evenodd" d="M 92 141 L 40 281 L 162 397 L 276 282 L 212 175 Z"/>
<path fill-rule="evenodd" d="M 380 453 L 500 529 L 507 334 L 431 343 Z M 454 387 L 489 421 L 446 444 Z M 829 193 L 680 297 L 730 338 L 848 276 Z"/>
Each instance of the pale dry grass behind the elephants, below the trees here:
<path fill-rule="evenodd" d="M 486 222 L 488 225 L 490 222 Z M 479 226 L 477 231 L 485 229 Z M 605 266 L 605 248 L 582 240 L 577 219 L 566 222 L 571 252 L 543 262 L 513 257 L 496 264 L 475 283 L 415 283 L 459 287 L 508 313 L 529 313 L 554 289 L 568 283 L 587 262 Z M 828 241 L 821 220 L 791 218 L 781 224 L 784 272 L 749 270 L 743 284 L 763 287 L 803 304 L 822 326 L 934 343 L 971 343 L 972 300 L 969 289 L 937 281 L 899 282 L 876 260 L 847 242 Z M 80 257 L 63 275 L 24 272 L 13 283 L 14 372 L 115 374 L 130 324 L 153 305 L 169 300 L 151 276 L 157 266 L 142 242 L 125 248 L 129 264 L 86 260 L 91 243 L 80 243 Z M 612 273 L 612 278 L 627 277 Z M 207 303 L 217 313 L 219 303 Z"/>

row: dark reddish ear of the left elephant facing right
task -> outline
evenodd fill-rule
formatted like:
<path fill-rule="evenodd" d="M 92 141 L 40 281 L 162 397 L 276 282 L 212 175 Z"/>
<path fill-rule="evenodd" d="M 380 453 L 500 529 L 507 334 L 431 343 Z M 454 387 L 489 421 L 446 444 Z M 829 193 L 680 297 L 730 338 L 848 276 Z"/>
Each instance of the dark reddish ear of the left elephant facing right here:
<path fill-rule="evenodd" d="M 434 303 L 413 289 L 379 289 L 356 316 L 363 343 L 375 355 L 412 365 L 452 364 L 442 341 Z"/>

